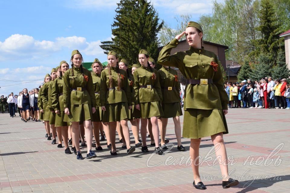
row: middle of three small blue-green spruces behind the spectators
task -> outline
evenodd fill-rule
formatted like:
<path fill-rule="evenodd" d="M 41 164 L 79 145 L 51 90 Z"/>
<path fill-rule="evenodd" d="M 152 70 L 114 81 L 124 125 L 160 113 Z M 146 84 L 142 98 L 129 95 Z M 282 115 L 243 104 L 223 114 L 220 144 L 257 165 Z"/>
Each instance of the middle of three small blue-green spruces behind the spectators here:
<path fill-rule="evenodd" d="M 250 78 L 259 80 L 261 78 L 272 76 L 273 62 L 268 53 L 261 53 L 258 57 L 258 62 L 254 64 Z"/>

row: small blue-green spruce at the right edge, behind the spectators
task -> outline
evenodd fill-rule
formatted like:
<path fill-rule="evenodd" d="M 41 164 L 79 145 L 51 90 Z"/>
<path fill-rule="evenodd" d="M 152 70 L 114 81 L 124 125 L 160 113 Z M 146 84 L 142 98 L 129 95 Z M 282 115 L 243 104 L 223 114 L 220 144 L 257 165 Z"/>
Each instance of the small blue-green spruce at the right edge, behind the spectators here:
<path fill-rule="evenodd" d="M 279 49 L 276 59 L 276 66 L 273 68 L 272 77 L 274 79 L 278 78 L 289 78 L 290 70 L 287 67 L 285 61 L 285 54 L 282 49 Z"/>

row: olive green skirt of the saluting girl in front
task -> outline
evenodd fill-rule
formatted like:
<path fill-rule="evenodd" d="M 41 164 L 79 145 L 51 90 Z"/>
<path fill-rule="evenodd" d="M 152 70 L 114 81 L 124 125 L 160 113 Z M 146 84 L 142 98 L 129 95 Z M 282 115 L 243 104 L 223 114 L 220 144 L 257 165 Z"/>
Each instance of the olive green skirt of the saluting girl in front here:
<path fill-rule="evenodd" d="M 183 137 L 198 139 L 217 133 L 229 133 L 222 109 L 186 109 L 183 117 Z"/>

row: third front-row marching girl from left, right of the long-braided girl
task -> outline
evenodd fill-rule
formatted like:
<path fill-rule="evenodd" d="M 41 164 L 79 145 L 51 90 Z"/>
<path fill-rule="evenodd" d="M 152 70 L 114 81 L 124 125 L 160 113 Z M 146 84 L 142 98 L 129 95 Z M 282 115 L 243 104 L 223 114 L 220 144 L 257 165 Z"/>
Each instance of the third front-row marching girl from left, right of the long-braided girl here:
<path fill-rule="evenodd" d="M 138 104 L 135 108 L 141 111 L 141 137 L 143 147 L 142 152 L 149 152 L 146 146 L 146 126 L 147 119 L 150 118 L 152 133 L 155 141 L 155 151 L 159 155 L 163 151 L 159 148 L 159 129 L 157 116 L 163 116 L 161 108 L 162 93 L 157 76 L 157 70 L 148 63 L 149 53 L 146 49 L 139 52 L 140 68 L 134 71 L 134 90 Z"/>

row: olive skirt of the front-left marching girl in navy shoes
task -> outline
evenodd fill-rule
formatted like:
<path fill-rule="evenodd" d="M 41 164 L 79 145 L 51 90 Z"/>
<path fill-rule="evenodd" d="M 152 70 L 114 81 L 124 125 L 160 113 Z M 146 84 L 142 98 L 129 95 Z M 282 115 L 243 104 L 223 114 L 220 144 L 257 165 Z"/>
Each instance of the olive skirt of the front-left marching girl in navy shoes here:
<path fill-rule="evenodd" d="M 70 105 L 69 115 L 65 114 L 64 122 L 80 122 L 90 120 L 92 117 L 91 104 Z"/>

